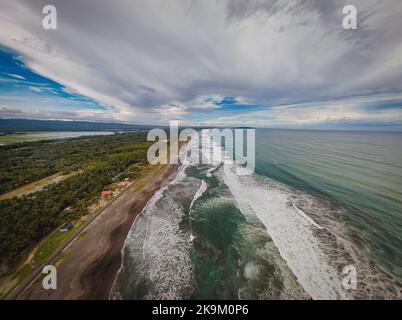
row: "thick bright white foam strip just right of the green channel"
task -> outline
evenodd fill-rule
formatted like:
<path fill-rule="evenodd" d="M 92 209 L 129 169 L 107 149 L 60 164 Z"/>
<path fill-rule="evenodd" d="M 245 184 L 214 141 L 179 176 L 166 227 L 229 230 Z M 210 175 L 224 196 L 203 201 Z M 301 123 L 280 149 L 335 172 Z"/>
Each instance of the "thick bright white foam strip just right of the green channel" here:
<path fill-rule="evenodd" d="M 255 176 L 238 176 L 232 166 L 225 165 L 223 172 L 239 208 L 261 220 L 281 256 L 313 299 L 352 298 L 343 289 L 341 275 L 330 264 L 314 235 L 313 228 L 319 225 L 290 205 L 290 194 L 264 184 Z"/>

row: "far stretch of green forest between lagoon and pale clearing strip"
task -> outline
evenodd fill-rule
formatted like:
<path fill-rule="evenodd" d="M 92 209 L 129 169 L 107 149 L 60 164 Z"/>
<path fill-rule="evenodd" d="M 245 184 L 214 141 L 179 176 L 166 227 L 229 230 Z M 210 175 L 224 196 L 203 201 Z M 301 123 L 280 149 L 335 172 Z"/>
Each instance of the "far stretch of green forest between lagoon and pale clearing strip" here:
<path fill-rule="evenodd" d="M 108 162 L 113 154 L 131 157 L 132 152 L 139 151 L 137 144 L 144 141 L 146 133 L 137 132 L 2 146 L 0 195 L 55 173 L 69 173 L 96 166 L 96 162 Z M 134 156 L 143 158 L 144 153 Z"/>

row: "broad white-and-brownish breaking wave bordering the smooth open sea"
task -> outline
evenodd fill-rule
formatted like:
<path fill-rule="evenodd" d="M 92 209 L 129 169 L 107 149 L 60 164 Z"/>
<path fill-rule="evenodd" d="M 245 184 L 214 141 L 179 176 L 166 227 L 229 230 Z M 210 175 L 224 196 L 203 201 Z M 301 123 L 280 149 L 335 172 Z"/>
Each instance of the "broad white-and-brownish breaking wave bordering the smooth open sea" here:
<path fill-rule="evenodd" d="M 255 214 L 297 280 L 313 299 L 400 298 L 401 286 L 368 257 L 329 202 L 261 176 L 238 176 L 225 166 L 223 179 L 246 214 Z M 353 265 L 357 288 L 342 285 Z"/>

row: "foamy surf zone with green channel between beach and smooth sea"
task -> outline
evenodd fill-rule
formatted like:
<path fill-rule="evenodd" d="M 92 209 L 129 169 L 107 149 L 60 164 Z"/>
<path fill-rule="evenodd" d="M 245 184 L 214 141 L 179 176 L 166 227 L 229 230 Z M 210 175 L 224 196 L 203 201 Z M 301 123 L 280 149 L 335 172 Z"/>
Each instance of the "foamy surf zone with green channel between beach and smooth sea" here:
<path fill-rule="evenodd" d="M 188 153 L 191 143 L 183 148 Z M 209 158 L 216 144 L 203 145 Z M 236 163 L 191 155 L 135 220 L 123 249 L 123 299 L 387 299 L 402 296 L 343 223 L 333 203 Z M 345 266 L 357 288 L 343 286 Z"/>

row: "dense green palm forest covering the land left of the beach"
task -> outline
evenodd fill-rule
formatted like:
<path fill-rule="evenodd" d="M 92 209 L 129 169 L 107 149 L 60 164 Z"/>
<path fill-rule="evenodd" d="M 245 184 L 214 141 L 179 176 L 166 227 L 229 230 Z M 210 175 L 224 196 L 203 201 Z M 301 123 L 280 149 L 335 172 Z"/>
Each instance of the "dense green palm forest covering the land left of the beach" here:
<path fill-rule="evenodd" d="M 150 145 L 146 132 L 132 132 L 0 147 L 0 194 L 56 173 L 78 172 L 41 191 L 0 201 L 0 265 L 86 214 L 105 186 L 136 178 Z"/>

